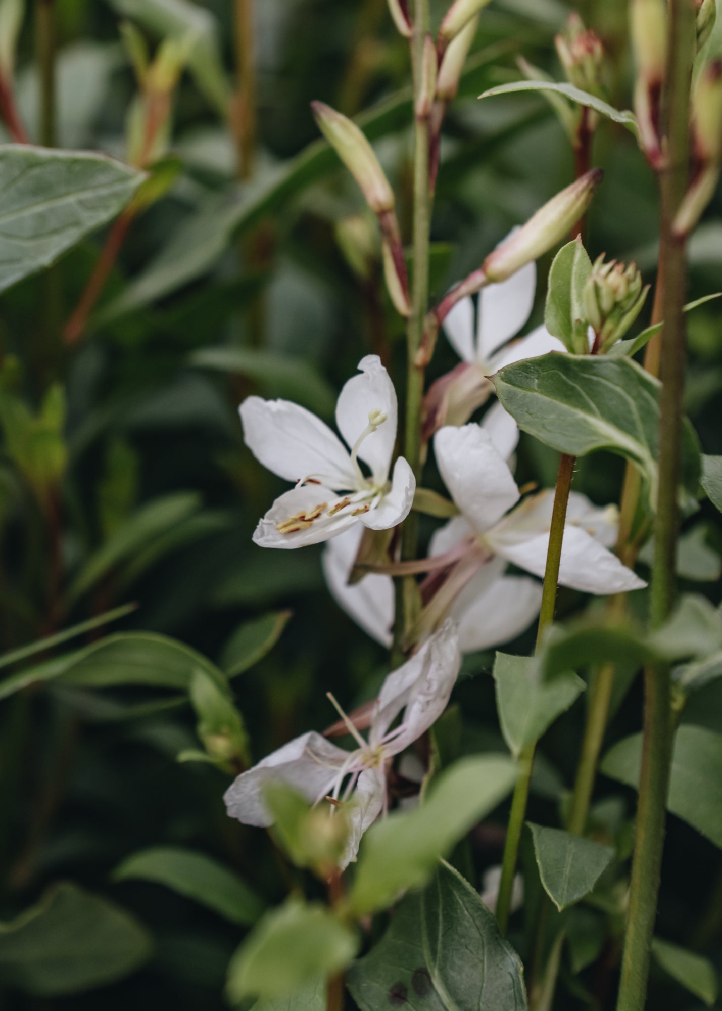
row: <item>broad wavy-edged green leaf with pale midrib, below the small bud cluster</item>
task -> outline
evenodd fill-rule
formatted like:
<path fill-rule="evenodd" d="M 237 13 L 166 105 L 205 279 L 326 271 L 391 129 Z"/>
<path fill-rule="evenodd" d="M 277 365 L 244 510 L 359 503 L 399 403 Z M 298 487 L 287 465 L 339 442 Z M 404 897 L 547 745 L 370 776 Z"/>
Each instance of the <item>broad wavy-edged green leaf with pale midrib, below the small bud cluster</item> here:
<path fill-rule="evenodd" d="M 656 504 L 659 383 L 628 358 L 548 354 L 508 365 L 492 381 L 520 429 L 547 446 L 585 456 L 609 450 L 638 468 Z M 700 472 L 697 436 L 683 430 L 685 504 L 696 502 Z"/>

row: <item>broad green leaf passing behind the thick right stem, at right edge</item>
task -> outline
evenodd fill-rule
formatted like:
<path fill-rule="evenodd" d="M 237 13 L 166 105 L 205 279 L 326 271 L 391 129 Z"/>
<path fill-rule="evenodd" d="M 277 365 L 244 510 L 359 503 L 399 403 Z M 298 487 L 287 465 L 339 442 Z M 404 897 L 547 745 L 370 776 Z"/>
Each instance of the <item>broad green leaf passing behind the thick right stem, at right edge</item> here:
<path fill-rule="evenodd" d="M 607 752 L 601 769 L 639 788 L 642 735 L 625 737 Z M 667 808 L 722 848 L 722 736 L 704 727 L 680 727 L 674 738 Z"/>

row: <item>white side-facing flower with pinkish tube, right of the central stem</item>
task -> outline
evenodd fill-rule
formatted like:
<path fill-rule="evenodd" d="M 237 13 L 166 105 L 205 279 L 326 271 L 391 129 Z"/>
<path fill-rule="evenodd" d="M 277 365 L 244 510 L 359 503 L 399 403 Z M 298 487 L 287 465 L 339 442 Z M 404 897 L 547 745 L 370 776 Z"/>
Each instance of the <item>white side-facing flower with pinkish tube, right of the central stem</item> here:
<path fill-rule="evenodd" d="M 434 452 L 460 516 L 432 538 L 430 553 L 448 559 L 449 566 L 437 576 L 436 584 L 429 586 L 433 595 L 420 616 L 416 634 L 433 631 L 454 613 L 457 602 L 464 601 L 462 592 L 472 590 L 474 610 L 467 616 L 472 627 L 476 623 L 483 631 L 482 622 L 492 624 L 489 618 L 493 616 L 497 624 L 504 626 L 506 621 L 509 628 L 521 631 L 522 619 L 528 624 L 531 619 L 527 616 L 536 614 L 538 604 L 531 587 L 525 587 L 528 596 L 523 601 L 522 587 L 515 589 L 507 582 L 516 577 L 501 576 L 501 571 L 504 563 L 512 562 L 543 578 L 553 493 L 545 490 L 517 504 L 520 491 L 512 472 L 487 433 L 477 425 L 441 429 L 434 439 Z M 584 495 L 570 495 L 559 566 L 561 585 L 599 594 L 627 592 L 646 585 L 605 546 L 614 542 L 616 520 L 614 508 L 600 510 Z M 494 565 L 499 566 L 499 581 L 490 578 Z M 433 578 L 434 573 L 426 582 Z M 482 581 L 487 586 L 485 592 Z M 424 588 L 422 584 L 423 595 Z M 430 595 L 428 591 L 426 595 Z M 465 634 L 462 624 L 460 636 Z M 472 630 L 469 634 L 473 634 Z"/>

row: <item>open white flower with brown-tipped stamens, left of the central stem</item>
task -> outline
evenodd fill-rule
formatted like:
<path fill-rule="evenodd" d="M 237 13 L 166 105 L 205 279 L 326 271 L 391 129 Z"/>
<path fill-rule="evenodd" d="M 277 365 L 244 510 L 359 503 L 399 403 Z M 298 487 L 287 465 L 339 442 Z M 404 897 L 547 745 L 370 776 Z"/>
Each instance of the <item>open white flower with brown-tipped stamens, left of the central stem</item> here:
<path fill-rule="evenodd" d="M 396 440 L 393 384 L 376 355 L 362 358 L 359 370 L 361 375 L 349 379 L 336 404 L 336 424 L 350 449 L 296 403 L 249 396 L 241 404 L 246 445 L 264 467 L 295 483 L 259 522 L 256 544 L 300 548 L 328 541 L 357 523 L 387 530 L 409 515 L 416 481 L 403 457 L 396 460 L 389 480 Z"/>

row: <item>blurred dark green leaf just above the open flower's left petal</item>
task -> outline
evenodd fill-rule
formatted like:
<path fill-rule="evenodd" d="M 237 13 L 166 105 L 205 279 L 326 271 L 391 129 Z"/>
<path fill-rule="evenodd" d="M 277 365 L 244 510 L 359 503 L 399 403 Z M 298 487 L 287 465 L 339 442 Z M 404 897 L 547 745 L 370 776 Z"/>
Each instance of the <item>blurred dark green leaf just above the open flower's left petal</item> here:
<path fill-rule="evenodd" d="M 326 417 L 332 416 L 336 406 L 337 394 L 303 358 L 258 348 L 200 348 L 191 355 L 190 363 L 247 376 L 268 395 L 293 400 Z"/>

